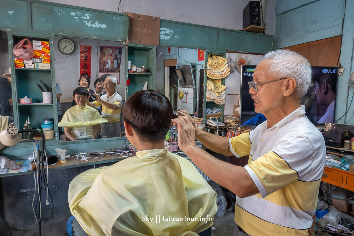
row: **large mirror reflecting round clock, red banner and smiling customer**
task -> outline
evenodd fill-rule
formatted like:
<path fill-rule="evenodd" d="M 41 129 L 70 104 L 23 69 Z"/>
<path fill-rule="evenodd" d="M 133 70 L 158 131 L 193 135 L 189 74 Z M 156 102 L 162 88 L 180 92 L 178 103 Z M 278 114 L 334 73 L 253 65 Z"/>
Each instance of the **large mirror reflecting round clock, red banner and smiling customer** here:
<path fill-rule="evenodd" d="M 125 136 L 124 44 L 54 36 L 53 45 L 60 140 Z"/>

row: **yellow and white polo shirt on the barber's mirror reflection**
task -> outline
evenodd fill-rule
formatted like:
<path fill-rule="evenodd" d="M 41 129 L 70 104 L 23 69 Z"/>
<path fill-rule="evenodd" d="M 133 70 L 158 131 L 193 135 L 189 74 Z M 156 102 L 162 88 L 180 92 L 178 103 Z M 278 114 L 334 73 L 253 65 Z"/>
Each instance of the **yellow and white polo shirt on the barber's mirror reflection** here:
<path fill-rule="evenodd" d="M 110 97 L 108 97 L 108 93 L 103 94 L 101 100 L 104 102 L 117 104 L 119 107 L 118 110 L 113 110 L 106 107 L 102 103 L 93 101 L 93 104 L 96 108 L 102 105 L 102 117 L 107 120 L 107 123 L 120 121 L 120 112 L 122 110 L 122 96 L 120 96 L 119 93 L 115 91 Z"/>

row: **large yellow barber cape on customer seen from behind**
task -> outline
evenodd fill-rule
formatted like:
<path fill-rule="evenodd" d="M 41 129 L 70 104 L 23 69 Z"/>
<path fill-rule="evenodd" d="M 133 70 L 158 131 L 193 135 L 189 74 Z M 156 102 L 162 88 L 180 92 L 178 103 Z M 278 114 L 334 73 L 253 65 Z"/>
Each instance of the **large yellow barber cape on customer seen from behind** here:
<path fill-rule="evenodd" d="M 90 236 L 196 236 L 217 210 L 216 192 L 193 164 L 166 149 L 81 173 L 68 195 Z"/>

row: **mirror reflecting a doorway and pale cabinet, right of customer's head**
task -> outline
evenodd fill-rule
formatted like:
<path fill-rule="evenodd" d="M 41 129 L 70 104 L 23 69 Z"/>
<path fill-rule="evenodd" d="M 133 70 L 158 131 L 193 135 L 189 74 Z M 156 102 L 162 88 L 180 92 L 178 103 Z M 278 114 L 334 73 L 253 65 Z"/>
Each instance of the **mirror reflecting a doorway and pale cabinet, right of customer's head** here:
<path fill-rule="evenodd" d="M 170 99 L 174 110 L 202 117 L 204 62 L 204 50 L 156 47 L 156 89 Z"/>

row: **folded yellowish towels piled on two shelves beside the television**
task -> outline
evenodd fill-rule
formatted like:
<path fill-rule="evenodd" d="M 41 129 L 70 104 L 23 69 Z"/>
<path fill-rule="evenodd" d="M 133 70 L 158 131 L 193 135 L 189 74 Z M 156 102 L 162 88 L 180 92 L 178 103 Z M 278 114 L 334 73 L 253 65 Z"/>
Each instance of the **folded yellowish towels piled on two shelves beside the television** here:
<path fill-rule="evenodd" d="M 207 69 L 207 91 L 206 101 L 214 101 L 216 104 L 225 104 L 225 85 L 221 84 L 221 79 L 230 74 L 227 60 L 221 56 L 208 55 Z"/>

